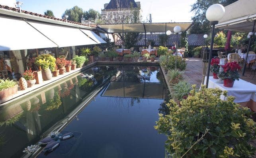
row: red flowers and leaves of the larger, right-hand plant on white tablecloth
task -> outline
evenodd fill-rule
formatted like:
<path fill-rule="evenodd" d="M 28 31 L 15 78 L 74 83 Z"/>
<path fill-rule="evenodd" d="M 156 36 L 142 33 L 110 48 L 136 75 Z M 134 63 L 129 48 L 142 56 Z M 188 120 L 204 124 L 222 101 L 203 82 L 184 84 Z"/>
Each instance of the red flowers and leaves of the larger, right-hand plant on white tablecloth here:
<path fill-rule="evenodd" d="M 228 62 L 222 67 L 224 70 L 219 74 L 221 79 L 232 79 L 234 81 L 239 80 L 238 70 L 241 69 L 241 66 L 239 66 L 236 61 Z"/>

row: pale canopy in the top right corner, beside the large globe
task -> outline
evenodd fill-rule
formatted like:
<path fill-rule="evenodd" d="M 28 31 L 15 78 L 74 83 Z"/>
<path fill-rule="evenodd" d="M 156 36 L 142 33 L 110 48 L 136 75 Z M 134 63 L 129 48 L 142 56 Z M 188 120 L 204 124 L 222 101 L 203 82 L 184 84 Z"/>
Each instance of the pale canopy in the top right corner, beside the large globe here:
<path fill-rule="evenodd" d="M 250 32 L 254 20 L 256 20 L 256 0 L 238 0 L 225 7 L 224 16 L 215 27 Z"/>

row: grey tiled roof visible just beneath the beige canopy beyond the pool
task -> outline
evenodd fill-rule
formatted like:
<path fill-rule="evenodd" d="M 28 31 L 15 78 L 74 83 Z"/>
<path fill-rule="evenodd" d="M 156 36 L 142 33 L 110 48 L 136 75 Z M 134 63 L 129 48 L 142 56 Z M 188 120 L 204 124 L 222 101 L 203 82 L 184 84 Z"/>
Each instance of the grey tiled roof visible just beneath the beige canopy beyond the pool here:
<path fill-rule="evenodd" d="M 178 43 L 180 43 L 180 34 L 178 34 Z M 155 46 L 160 46 L 160 39 L 159 34 L 157 35 L 146 35 L 147 41 L 153 40 L 155 42 Z M 137 41 L 135 46 L 145 46 L 145 35 L 140 35 L 140 40 Z M 176 35 L 171 34 L 168 36 L 167 44 L 170 46 L 174 46 L 174 43 L 176 42 Z M 188 45 L 204 45 L 204 38 L 203 34 L 191 34 L 188 35 Z M 115 42 L 115 45 L 122 45 L 122 40 L 119 39 L 117 42 Z"/>

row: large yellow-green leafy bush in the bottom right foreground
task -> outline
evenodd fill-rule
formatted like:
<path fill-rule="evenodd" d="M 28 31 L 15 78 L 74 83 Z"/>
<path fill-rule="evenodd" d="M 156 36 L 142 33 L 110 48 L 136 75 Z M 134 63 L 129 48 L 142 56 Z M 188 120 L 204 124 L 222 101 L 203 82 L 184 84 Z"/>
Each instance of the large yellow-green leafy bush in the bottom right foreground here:
<path fill-rule="evenodd" d="M 167 152 L 175 158 L 196 157 L 243 157 L 254 156 L 250 144 L 255 139 L 256 123 L 252 111 L 234 103 L 235 97 L 227 97 L 227 91 L 205 88 L 196 92 L 192 86 L 190 96 L 180 101 L 167 103 L 170 114 L 159 114 L 154 127 L 167 136 Z M 203 137 L 203 139 L 199 139 Z"/>

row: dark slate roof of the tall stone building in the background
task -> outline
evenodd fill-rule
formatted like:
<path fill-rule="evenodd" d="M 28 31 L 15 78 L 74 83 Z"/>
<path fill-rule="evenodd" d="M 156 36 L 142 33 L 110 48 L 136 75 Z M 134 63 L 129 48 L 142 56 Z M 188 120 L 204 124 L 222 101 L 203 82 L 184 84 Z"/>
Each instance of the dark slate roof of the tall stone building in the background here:
<path fill-rule="evenodd" d="M 138 7 L 134 0 L 110 0 L 105 9 L 130 8 L 130 4 L 133 4 L 134 8 Z"/>

